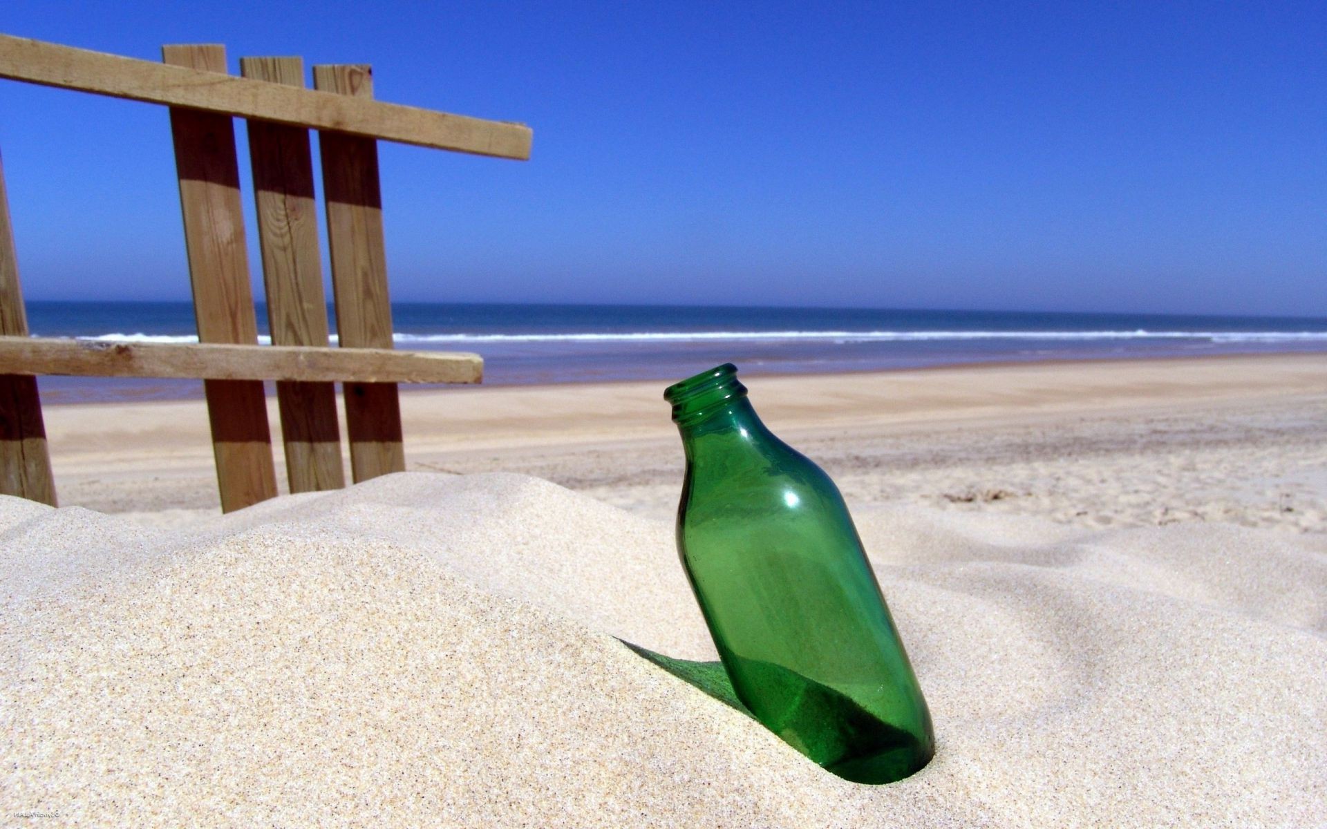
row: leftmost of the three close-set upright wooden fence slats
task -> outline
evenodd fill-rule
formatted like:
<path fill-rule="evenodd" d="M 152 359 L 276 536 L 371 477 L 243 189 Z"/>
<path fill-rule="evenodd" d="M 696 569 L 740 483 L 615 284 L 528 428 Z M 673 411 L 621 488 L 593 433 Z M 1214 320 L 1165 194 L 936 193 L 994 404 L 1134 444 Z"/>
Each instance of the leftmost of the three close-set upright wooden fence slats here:
<path fill-rule="evenodd" d="M 226 72 L 218 45 L 162 46 L 162 60 Z M 230 115 L 171 107 L 194 314 L 203 342 L 257 344 Z M 272 434 L 261 381 L 204 381 L 222 512 L 276 495 Z"/>

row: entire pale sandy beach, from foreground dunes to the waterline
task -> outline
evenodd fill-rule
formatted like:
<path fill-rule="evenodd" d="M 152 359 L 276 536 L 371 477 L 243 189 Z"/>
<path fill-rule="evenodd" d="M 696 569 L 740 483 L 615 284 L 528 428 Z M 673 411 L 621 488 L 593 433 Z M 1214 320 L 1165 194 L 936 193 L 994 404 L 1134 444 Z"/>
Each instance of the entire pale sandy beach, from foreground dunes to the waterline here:
<path fill-rule="evenodd" d="M 916 776 L 839 780 L 625 647 L 715 658 L 665 383 L 456 387 L 402 394 L 406 474 L 228 516 L 200 401 L 48 406 L 61 509 L 0 497 L 0 813 L 1323 825 L 1327 357 L 742 378 L 852 509 Z"/>

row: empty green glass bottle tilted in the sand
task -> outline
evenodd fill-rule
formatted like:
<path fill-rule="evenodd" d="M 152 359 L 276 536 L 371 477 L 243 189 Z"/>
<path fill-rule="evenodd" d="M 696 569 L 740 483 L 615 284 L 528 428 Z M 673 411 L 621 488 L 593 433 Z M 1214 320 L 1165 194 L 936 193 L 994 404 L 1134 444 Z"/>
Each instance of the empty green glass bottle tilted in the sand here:
<path fill-rule="evenodd" d="M 840 777 L 926 765 L 930 712 L 839 488 L 766 428 L 733 363 L 664 397 L 686 451 L 678 552 L 738 699 Z"/>

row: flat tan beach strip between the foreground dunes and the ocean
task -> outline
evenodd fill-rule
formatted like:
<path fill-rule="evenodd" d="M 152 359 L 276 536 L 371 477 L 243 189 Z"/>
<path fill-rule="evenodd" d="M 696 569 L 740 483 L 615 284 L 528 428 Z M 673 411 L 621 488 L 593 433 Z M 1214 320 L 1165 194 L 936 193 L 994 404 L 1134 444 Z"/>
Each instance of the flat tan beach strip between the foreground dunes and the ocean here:
<path fill-rule="evenodd" d="M 1324 355 L 742 377 L 766 423 L 851 503 L 1327 531 Z M 667 519 L 682 451 L 664 385 L 406 391 L 406 468 L 535 475 Z M 275 401 L 268 420 L 284 487 Z M 202 401 L 49 406 L 46 430 L 62 504 L 218 515 Z"/>

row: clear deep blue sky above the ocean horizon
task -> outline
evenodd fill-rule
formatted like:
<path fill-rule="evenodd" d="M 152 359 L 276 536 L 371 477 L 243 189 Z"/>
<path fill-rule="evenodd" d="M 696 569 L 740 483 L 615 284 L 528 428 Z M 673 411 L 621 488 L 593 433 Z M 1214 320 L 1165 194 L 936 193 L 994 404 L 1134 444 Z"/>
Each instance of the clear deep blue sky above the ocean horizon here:
<path fill-rule="evenodd" d="M 1327 314 L 1320 0 L 4 0 L 0 31 L 372 62 L 380 99 L 531 125 L 529 162 L 381 146 L 395 300 Z M 188 297 L 165 107 L 0 80 L 0 153 L 29 298 Z"/>

